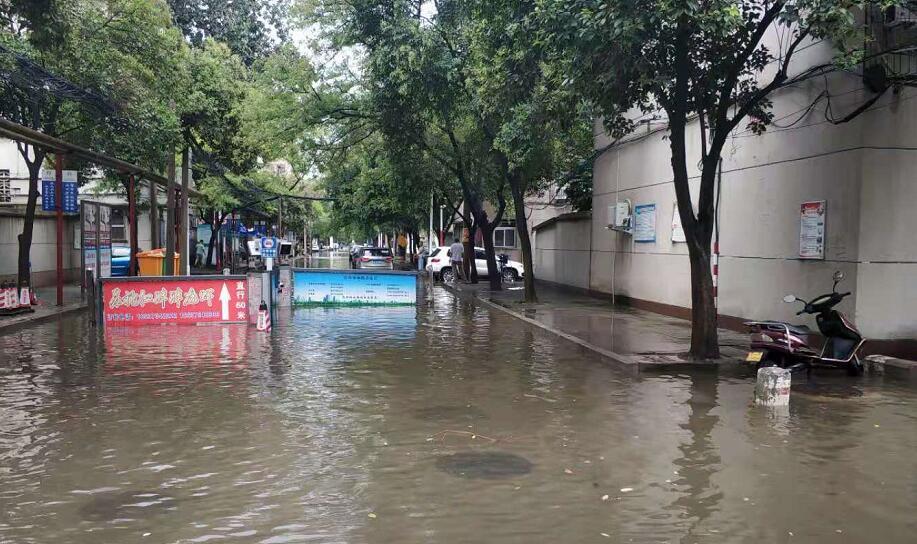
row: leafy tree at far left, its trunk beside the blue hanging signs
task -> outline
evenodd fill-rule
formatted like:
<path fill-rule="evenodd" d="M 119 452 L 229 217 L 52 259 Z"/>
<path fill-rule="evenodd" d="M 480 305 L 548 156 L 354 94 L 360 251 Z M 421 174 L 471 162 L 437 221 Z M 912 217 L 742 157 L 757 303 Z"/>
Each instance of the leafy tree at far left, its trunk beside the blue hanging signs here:
<path fill-rule="evenodd" d="M 0 4 L 0 22 L 4 117 L 83 145 L 100 134 L 120 135 L 122 146 L 134 137 L 147 144 L 148 159 L 175 136 L 177 119 L 162 107 L 161 93 L 182 44 L 161 0 L 14 0 Z M 24 286 L 46 152 L 17 145 L 29 170 L 18 258 Z"/>

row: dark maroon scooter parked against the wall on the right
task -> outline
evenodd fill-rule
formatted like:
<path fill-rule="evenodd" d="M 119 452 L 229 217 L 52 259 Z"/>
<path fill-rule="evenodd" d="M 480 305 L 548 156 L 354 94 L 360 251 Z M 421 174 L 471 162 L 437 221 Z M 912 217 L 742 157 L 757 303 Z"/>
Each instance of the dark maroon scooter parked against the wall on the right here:
<path fill-rule="evenodd" d="M 834 310 L 850 293 L 838 293 L 837 284 L 844 279 L 844 273 L 834 273 L 834 287 L 831 292 L 818 296 L 809 302 L 795 295 L 783 297 L 787 303 L 805 304 L 796 315 L 815 314 L 818 330 L 825 337 L 821 350 L 809 343 L 813 333 L 805 325 L 791 325 L 780 321 L 749 321 L 751 328 L 751 352 L 746 361 L 757 366 L 779 366 L 791 370 L 810 371 L 813 364 L 844 367 L 848 374 L 863 373 L 863 363 L 858 355 L 866 340 L 847 317 Z"/>

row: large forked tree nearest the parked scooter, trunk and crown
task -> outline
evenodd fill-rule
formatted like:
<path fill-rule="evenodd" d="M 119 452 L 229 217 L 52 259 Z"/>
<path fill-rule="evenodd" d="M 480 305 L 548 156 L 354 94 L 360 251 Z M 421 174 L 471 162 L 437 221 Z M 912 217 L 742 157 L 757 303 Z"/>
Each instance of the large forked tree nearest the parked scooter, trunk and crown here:
<path fill-rule="evenodd" d="M 615 136 L 633 128 L 636 107 L 665 112 L 678 211 L 691 265 L 691 355 L 719 357 L 710 270 L 717 167 L 740 124 L 757 132 L 772 120 L 772 94 L 831 66 L 792 72 L 810 40 L 829 40 L 838 60 L 861 55 L 855 10 L 889 5 L 853 0 L 541 0 L 540 39 L 567 70 L 570 85 L 598 108 Z M 781 36 L 776 48 L 768 33 Z M 686 130 L 700 130 L 700 187 L 689 187 Z"/>

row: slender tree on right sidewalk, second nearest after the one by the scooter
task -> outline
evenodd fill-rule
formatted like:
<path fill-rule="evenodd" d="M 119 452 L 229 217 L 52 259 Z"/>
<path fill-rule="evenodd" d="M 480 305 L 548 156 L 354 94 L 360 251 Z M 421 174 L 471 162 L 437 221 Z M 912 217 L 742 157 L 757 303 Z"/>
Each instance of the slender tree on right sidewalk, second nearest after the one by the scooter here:
<path fill-rule="evenodd" d="M 537 296 L 525 199 L 578 167 L 592 148 L 590 112 L 568 88 L 552 85 L 556 67 L 537 40 L 536 5 L 450 2 L 450 13 L 468 11 L 465 81 L 513 198 L 526 302 Z"/>

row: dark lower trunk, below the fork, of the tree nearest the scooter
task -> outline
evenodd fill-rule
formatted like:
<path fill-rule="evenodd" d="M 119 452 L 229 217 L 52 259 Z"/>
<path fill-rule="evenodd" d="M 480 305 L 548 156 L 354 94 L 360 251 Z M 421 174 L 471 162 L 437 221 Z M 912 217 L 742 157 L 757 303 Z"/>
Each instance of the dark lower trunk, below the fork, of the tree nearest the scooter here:
<path fill-rule="evenodd" d="M 720 345 L 710 272 L 710 245 L 699 246 L 689 238 L 688 258 L 691 261 L 691 356 L 718 359 Z"/>

